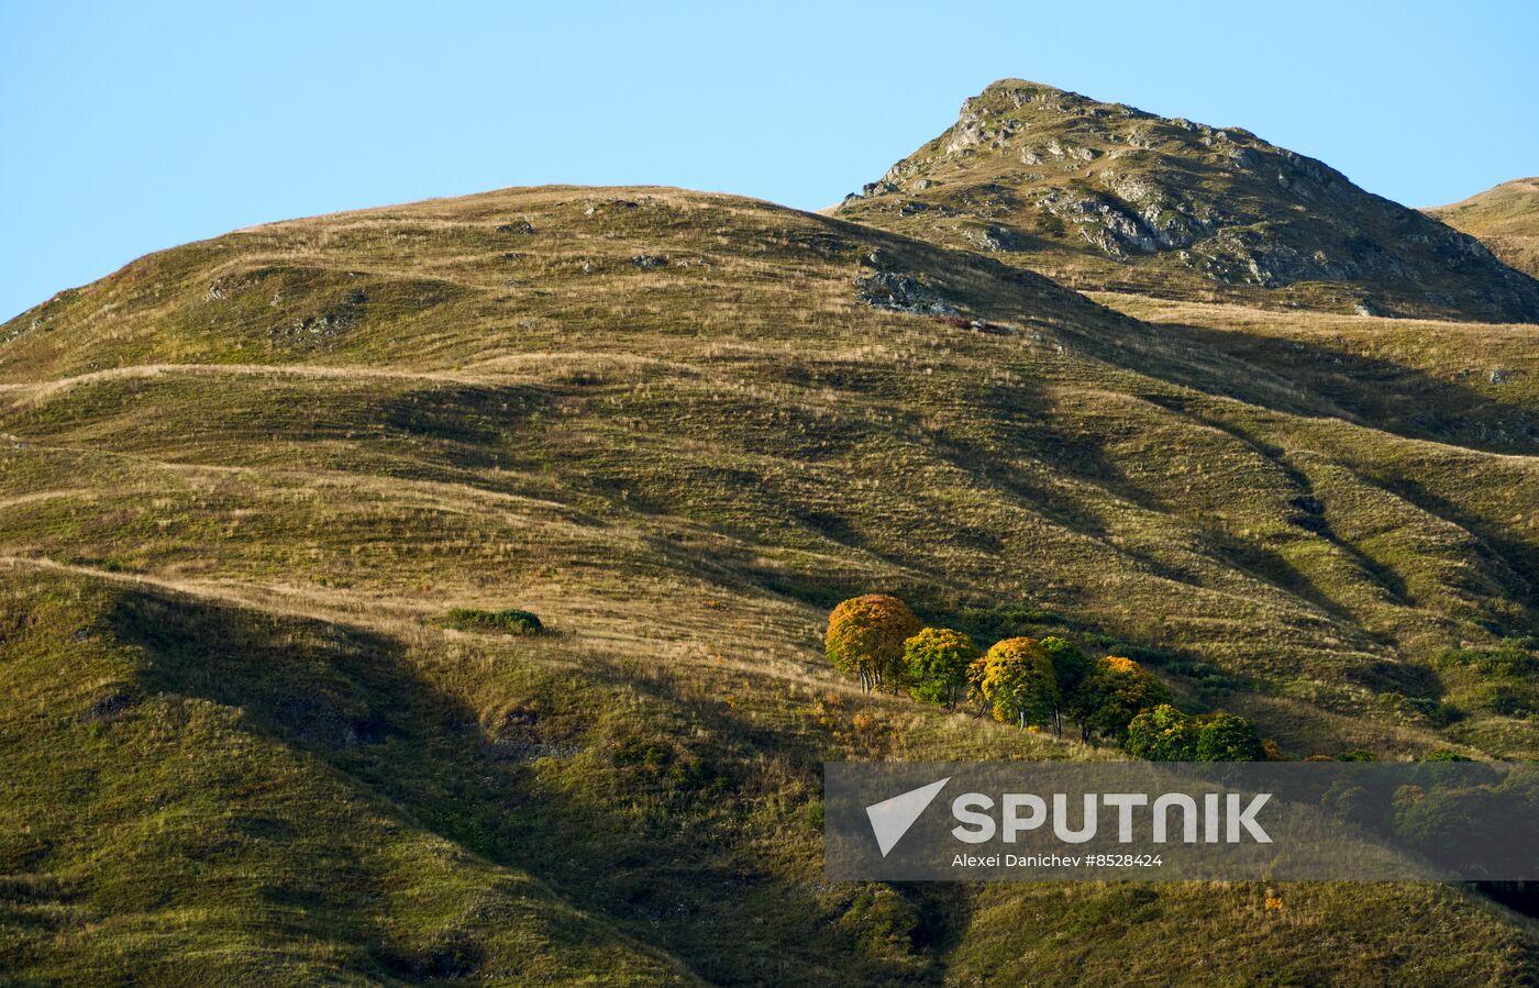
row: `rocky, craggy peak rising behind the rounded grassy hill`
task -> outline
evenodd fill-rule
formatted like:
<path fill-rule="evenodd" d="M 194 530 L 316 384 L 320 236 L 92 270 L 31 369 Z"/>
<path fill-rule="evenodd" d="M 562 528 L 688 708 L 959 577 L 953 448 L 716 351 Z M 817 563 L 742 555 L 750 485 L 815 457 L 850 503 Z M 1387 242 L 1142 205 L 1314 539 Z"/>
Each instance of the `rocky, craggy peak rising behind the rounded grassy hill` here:
<path fill-rule="evenodd" d="M 836 214 L 1080 289 L 1539 322 L 1539 282 L 1320 162 L 1014 78 Z"/>

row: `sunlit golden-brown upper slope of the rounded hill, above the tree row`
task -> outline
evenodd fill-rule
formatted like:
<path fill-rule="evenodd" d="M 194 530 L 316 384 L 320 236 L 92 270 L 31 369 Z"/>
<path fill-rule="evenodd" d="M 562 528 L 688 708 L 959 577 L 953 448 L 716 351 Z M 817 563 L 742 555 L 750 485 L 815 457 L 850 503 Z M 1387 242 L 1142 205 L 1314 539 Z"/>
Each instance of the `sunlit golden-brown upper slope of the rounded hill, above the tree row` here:
<path fill-rule="evenodd" d="M 962 319 L 874 308 L 874 274 Z M 1531 629 L 1533 460 L 748 200 L 546 189 L 274 225 L 6 329 L 15 556 L 428 608 L 679 580 L 1030 602 L 1407 743 L 1439 686 L 1384 668 Z"/>

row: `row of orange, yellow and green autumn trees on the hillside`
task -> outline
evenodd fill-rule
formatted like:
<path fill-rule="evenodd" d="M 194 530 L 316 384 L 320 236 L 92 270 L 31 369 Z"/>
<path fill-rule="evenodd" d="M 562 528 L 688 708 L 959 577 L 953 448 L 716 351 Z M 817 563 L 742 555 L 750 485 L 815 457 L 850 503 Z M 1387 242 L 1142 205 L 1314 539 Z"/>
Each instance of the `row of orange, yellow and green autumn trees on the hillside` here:
<path fill-rule="evenodd" d="M 845 600 L 828 619 L 828 660 L 863 689 L 906 689 L 914 699 L 956 708 L 966 703 L 996 720 L 1050 726 L 1065 720 L 1080 739 L 1100 736 L 1151 760 L 1259 760 L 1262 740 L 1244 717 L 1207 722 L 1176 709 L 1170 691 L 1133 659 L 1091 659 L 1060 637 L 1013 637 L 979 651 L 953 628 L 926 628 L 897 597 Z"/>

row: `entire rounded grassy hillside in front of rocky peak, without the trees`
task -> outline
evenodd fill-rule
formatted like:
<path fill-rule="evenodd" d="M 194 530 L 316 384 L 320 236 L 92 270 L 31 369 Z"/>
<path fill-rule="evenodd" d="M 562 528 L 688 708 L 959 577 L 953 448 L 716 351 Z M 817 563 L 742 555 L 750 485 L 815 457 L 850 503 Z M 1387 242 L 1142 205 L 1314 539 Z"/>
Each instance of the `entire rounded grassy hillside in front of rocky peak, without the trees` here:
<path fill-rule="evenodd" d="M 6 976 L 1531 977 L 1453 888 L 822 879 L 825 759 L 1114 757 L 860 696 L 819 648 L 857 592 L 1137 649 L 1294 757 L 1539 754 L 1479 662 L 1539 634 L 1539 329 L 1464 328 L 1516 371 L 1481 385 L 1394 323 L 1354 359 L 1419 416 L 1245 319 L 653 188 L 62 292 L 0 326 Z"/>

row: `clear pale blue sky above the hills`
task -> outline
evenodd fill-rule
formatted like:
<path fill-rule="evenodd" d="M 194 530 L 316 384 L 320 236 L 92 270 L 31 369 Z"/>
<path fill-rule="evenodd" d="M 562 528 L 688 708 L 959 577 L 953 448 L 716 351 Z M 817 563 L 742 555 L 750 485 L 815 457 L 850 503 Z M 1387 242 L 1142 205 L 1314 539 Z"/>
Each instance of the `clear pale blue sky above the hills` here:
<path fill-rule="evenodd" d="M 1539 172 L 1539 5 L 0 0 L 0 319 L 159 248 L 509 185 L 820 208 L 994 78 L 1410 205 Z"/>

